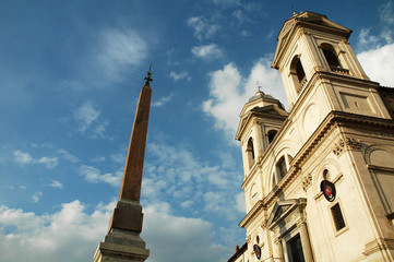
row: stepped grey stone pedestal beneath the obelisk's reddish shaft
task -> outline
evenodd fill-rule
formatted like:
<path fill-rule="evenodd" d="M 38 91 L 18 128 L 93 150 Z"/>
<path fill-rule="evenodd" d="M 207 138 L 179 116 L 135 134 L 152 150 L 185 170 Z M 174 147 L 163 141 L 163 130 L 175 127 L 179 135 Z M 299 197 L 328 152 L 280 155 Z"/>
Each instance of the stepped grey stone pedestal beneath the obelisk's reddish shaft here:
<path fill-rule="evenodd" d="M 94 262 L 141 262 L 150 255 L 140 237 L 142 207 L 135 201 L 118 201 L 104 241 L 97 247 Z"/>

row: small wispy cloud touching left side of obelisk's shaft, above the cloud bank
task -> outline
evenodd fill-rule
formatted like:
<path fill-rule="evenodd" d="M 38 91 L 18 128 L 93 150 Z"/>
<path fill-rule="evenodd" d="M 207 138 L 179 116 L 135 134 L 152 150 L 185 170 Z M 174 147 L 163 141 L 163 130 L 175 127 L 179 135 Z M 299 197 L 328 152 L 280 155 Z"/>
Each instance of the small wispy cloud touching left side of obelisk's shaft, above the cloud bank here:
<path fill-rule="evenodd" d="M 110 172 L 103 175 L 102 171 L 99 169 L 97 169 L 96 167 L 86 166 L 86 165 L 82 165 L 79 169 L 79 172 L 88 182 L 93 182 L 93 183 L 106 182 L 112 187 L 120 186 L 120 182 L 122 180 L 122 175 L 123 175 L 121 171 L 117 171 L 117 172 L 115 172 L 115 175 L 110 174 Z"/>

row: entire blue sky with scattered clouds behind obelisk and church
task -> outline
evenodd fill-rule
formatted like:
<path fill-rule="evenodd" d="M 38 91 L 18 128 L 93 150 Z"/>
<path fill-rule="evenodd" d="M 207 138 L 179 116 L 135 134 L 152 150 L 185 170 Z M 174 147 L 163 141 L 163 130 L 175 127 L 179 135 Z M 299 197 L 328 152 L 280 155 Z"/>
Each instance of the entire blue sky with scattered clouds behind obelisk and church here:
<path fill-rule="evenodd" d="M 353 29 L 394 86 L 393 1 L 1 1 L 0 260 L 92 260 L 153 63 L 148 261 L 226 261 L 246 238 L 238 116 L 258 81 L 287 107 L 270 66 L 291 5 Z"/>

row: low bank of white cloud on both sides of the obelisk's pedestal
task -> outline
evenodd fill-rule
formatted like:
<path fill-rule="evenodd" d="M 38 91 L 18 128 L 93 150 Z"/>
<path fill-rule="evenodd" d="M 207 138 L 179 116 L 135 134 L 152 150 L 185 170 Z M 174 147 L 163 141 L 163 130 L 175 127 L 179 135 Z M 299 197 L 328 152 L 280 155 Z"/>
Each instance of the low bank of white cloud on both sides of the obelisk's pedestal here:
<path fill-rule="evenodd" d="M 1 261 L 92 261 L 115 205 L 100 203 L 86 212 L 75 200 L 43 215 L 1 205 Z M 142 238 L 151 249 L 148 262 L 225 261 L 231 253 L 216 243 L 213 225 L 206 221 L 176 216 L 166 202 L 148 204 L 144 213 Z"/>

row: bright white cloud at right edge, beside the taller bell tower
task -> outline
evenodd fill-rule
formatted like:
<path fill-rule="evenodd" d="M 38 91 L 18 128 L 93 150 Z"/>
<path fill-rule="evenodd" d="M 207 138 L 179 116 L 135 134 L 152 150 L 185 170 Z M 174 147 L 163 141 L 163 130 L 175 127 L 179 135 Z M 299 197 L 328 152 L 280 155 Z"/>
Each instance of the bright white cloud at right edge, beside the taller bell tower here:
<path fill-rule="evenodd" d="M 357 58 L 372 81 L 394 86 L 394 44 L 363 51 Z"/>

